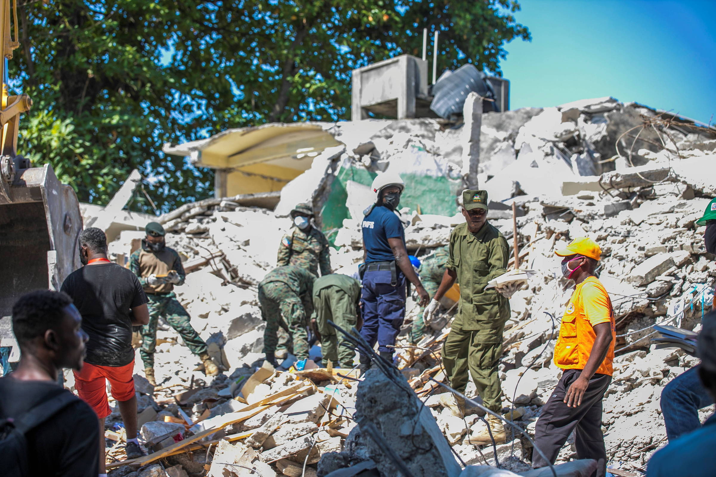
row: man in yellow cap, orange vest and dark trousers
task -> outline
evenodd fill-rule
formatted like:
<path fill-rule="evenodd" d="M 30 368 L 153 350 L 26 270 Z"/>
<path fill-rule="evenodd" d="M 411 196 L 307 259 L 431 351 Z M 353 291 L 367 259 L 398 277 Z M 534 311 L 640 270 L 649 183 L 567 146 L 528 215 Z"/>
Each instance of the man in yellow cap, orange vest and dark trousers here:
<path fill-rule="evenodd" d="M 564 310 L 554 364 L 563 369 L 557 387 L 542 408 L 535 429 L 535 468 L 554 463 L 559 449 L 572 431 L 580 459 L 599 463 L 599 476 L 606 472 L 606 449 L 601 433 L 601 400 L 611 383 L 614 360 L 614 310 L 594 270 L 601 258 L 599 245 L 576 237 L 555 252 L 562 258 L 562 275 L 576 287 Z"/>

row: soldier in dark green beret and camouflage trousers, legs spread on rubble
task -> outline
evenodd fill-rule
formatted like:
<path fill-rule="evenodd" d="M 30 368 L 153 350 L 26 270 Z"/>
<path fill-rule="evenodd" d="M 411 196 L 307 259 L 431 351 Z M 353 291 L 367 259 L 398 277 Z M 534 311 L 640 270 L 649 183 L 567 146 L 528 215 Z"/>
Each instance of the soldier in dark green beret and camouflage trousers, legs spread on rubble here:
<path fill-rule="evenodd" d="M 164 227 L 158 222 L 149 222 L 145 231 L 147 236 L 142 239 L 142 247 L 130 257 L 130 270 L 139 277 L 149 300 L 149 323 L 142 326 L 140 349 L 145 376 L 150 383 L 156 384 L 154 350 L 157 347 L 157 325 L 160 316 L 179 333 L 191 352 L 198 355 L 204 364 L 205 375 L 217 375 L 219 370 L 207 353 L 206 343 L 190 325 L 189 314 L 173 292 L 174 286 L 183 285 L 185 278 L 179 254 L 165 246 Z"/>

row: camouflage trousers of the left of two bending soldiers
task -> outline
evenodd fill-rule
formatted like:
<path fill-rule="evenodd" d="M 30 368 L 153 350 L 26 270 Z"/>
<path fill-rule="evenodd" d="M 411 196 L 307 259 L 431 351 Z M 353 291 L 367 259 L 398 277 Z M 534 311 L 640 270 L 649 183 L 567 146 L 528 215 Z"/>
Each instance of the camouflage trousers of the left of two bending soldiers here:
<path fill-rule="evenodd" d="M 294 355 L 299 360 L 309 357 L 309 337 L 306 333 L 306 310 L 299 295 L 284 282 L 268 282 L 258 285 L 258 302 L 261 315 L 266 321 L 263 330 L 263 353 L 275 353 L 279 344 L 279 328 L 291 335 Z M 281 318 L 283 315 L 283 318 Z"/>

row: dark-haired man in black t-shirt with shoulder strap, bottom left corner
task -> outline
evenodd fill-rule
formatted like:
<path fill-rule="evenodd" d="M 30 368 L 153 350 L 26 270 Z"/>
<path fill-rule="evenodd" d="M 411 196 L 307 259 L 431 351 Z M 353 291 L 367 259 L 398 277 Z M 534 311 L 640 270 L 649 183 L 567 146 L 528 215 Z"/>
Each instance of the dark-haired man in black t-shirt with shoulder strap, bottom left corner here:
<path fill-rule="evenodd" d="M 38 290 L 17 300 L 12 328 L 22 354 L 17 370 L 0 378 L 0 420 L 18 422 L 34 408 L 42 410 L 49 400 L 71 395 L 57 385 L 57 373 L 62 368 L 82 368 L 87 335 L 81 322 L 64 293 Z M 82 400 L 68 399 L 69 404 L 25 433 L 27 475 L 97 476 L 97 416 Z M 0 458 L 0 474 L 11 475 L 10 465 Z"/>

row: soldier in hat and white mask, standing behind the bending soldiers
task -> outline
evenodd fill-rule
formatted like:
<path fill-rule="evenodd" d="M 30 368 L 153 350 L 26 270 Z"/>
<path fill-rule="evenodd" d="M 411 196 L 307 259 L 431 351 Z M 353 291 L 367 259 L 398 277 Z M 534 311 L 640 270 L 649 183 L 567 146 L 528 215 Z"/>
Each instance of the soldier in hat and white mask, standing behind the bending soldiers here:
<path fill-rule="evenodd" d="M 291 210 L 291 218 L 294 226 L 291 227 L 279 245 L 279 257 L 276 260 L 277 267 L 296 265 L 303 267 L 318 277 L 318 269 L 321 268 L 321 275 L 329 275 L 331 272 L 331 257 L 326 236 L 312 223 L 314 213 L 310 204 L 296 205 Z"/>

